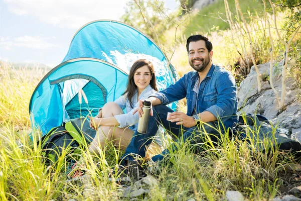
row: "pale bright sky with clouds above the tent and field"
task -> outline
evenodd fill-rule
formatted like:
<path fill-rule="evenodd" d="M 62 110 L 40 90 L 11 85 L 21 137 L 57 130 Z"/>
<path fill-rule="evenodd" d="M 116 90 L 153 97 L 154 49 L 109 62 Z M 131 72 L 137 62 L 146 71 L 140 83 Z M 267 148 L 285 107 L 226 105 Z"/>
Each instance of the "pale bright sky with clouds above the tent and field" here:
<path fill-rule="evenodd" d="M 174 10 L 176 0 L 164 0 Z M 60 64 L 78 29 L 119 21 L 132 0 L 0 0 L 0 60 Z"/>

